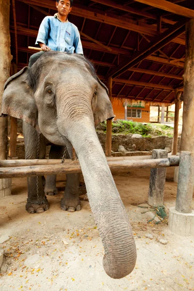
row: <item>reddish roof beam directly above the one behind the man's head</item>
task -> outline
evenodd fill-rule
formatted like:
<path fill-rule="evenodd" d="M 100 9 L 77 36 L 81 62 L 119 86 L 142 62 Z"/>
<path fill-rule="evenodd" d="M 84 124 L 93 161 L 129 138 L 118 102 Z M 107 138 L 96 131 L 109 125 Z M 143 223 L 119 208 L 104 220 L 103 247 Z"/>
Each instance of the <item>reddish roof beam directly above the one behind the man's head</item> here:
<path fill-rule="evenodd" d="M 115 9 L 126 11 L 128 13 L 144 16 L 146 18 L 151 18 L 151 19 L 155 19 L 155 20 L 158 19 L 157 16 L 152 15 L 151 13 L 142 11 L 141 9 L 135 9 L 135 8 L 132 8 L 132 7 L 129 7 L 129 6 L 126 6 L 126 5 L 120 5 L 117 2 L 113 2 L 111 0 L 92 0 L 92 1 L 94 1 L 96 3 L 104 4 L 106 6 L 113 7 Z M 165 23 L 169 23 L 169 24 L 175 24 L 175 21 L 172 21 L 172 20 L 169 20 L 169 19 L 166 19 L 166 18 L 162 18 L 162 21 L 165 22 Z"/>

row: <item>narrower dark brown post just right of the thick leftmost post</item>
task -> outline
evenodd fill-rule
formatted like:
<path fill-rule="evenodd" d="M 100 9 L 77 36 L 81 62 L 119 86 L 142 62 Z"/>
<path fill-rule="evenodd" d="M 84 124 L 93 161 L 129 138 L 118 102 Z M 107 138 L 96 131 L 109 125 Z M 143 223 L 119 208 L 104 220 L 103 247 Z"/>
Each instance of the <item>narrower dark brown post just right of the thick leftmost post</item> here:
<path fill-rule="evenodd" d="M 12 63 L 11 75 L 17 73 L 17 65 Z M 17 146 L 17 118 L 10 116 L 10 140 L 9 140 L 9 157 L 16 158 Z"/>

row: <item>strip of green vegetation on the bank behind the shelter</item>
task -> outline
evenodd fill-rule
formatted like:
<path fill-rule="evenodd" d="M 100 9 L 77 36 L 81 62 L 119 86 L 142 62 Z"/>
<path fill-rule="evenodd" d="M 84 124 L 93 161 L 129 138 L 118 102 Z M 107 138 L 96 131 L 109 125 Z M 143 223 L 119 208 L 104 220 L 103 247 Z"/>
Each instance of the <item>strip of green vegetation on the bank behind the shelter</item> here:
<path fill-rule="evenodd" d="M 106 132 L 106 121 L 102 122 L 97 131 Z M 139 133 L 143 137 L 153 137 L 158 135 L 173 136 L 173 128 L 167 125 L 160 125 L 156 123 L 139 123 L 126 120 L 113 121 L 113 134 L 133 134 Z"/>

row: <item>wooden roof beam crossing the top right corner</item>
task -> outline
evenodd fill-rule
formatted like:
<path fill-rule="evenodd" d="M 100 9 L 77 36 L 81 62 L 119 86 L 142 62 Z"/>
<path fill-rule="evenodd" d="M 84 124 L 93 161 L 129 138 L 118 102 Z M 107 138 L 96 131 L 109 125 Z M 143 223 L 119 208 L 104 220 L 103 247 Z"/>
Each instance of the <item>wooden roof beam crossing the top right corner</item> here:
<path fill-rule="evenodd" d="M 174 14 L 178 14 L 181 16 L 189 17 L 189 18 L 194 18 L 194 10 L 185 8 L 183 6 L 171 3 L 169 1 L 165 0 L 135 0 L 136 2 L 144 3 L 147 5 L 150 5 L 152 7 L 156 7 Z"/>

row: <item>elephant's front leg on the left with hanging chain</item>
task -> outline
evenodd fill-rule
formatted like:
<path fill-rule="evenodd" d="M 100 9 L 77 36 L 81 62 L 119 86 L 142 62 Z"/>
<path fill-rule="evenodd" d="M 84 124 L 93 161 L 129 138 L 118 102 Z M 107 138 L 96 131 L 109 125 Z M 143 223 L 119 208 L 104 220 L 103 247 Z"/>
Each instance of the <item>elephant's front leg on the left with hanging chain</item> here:
<path fill-rule="evenodd" d="M 46 139 L 28 123 L 23 122 L 25 159 L 44 159 L 46 154 Z M 38 150 L 39 147 L 39 150 Z M 28 199 L 26 210 L 29 213 L 41 213 L 49 209 L 49 202 L 45 197 L 42 176 L 28 177 Z"/>

